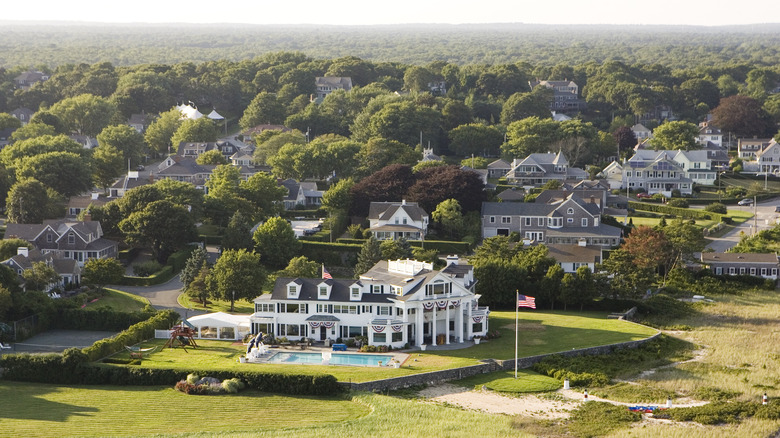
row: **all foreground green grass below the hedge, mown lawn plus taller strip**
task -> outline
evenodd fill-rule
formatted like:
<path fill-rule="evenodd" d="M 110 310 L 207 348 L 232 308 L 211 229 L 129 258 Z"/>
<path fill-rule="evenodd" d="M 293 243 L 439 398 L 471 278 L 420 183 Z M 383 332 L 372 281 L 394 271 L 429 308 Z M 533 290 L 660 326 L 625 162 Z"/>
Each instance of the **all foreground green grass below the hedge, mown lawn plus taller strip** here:
<path fill-rule="evenodd" d="M 172 388 L 49 386 L 0 381 L 0 435 L 225 437 L 529 436 L 511 418 L 374 394 L 351 399 L 243 391 L 192 396 Z M 468 427 L 464 427 L 468 425 Z"/>

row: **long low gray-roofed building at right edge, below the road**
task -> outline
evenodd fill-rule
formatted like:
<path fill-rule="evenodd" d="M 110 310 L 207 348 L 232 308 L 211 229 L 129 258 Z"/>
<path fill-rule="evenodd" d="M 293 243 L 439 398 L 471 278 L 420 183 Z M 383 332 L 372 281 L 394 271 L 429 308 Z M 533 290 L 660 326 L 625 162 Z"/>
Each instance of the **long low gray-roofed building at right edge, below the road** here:
<path fill-rule="evenodd" d="M 715 275 L 750 275 L 777 280 L 777 254 L 703 252 L 702 264 Z"/>

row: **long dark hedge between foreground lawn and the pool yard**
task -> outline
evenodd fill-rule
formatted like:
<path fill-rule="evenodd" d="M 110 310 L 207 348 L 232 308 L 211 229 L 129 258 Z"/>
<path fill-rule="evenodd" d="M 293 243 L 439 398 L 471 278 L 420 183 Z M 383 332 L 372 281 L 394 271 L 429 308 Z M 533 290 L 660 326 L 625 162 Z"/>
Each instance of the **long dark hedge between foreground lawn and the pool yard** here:
<path fill-rule="evenodd" d="M 291 395 L 331 395 L 343 391 L 331 375 L 275 374 L 255 371 L 172 370 L 113 366 L 88 363 L 87 356 L 76 348 L 63 354 L 7 354 L 0 357 L 3 378 L 23 382 L 68 385 L 173 386 L 187 374 L 238 378 L 248 387 L 264 392 Z"/>

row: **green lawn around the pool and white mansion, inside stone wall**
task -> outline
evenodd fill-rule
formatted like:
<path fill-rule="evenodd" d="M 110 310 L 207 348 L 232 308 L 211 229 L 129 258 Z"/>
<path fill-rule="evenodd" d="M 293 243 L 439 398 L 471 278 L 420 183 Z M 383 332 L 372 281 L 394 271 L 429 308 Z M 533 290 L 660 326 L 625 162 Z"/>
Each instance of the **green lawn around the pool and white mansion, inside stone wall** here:
<path fill-rule="evenodd" d="M 144 357 L 143 366 L 150 368 L 176 368 L 182 370 L 257 370 L 296 374 L 332 374 L 340 381 L 365 382 L 398 377 L 421 372 L 476 365 L 480 359 L 511 359 L 514 357 L 514 312 L 492 312 L 490 330 L 498 330 L 502 336 L 480 345 L 460 350 L 414 352 L 400 369 L 377 367 L 345 367 L 289 364 L 241 364 L 242 345 L 227 341 L 199 340 L 199 348 L 167 348 Z M 533 356 L 554 353 L 573 348 L 593 347 L 617 342 L 644 339 L 656 331 L 627 321 L 607 319 L 601 312 L 520 312 L 519 355 Z M 162 345 L 158 339 L 143 347 Z M 128 358 L 129 353 L 117 353 L 116 357 Z"/>

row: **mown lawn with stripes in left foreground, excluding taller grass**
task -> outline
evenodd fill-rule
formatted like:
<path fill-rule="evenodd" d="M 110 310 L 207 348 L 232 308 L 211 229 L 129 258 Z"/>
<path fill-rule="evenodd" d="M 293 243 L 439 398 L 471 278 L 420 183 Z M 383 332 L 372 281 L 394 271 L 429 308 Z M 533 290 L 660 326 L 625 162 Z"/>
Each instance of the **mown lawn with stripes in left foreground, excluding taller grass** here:
<path fill-rule="evenodd" d="M 0 381 L 2 436 L 140 436 L 254 432 L 355 421 L 364 403 L 246 390 L 194 396 L 166 387 L 48 386 Z"/>

